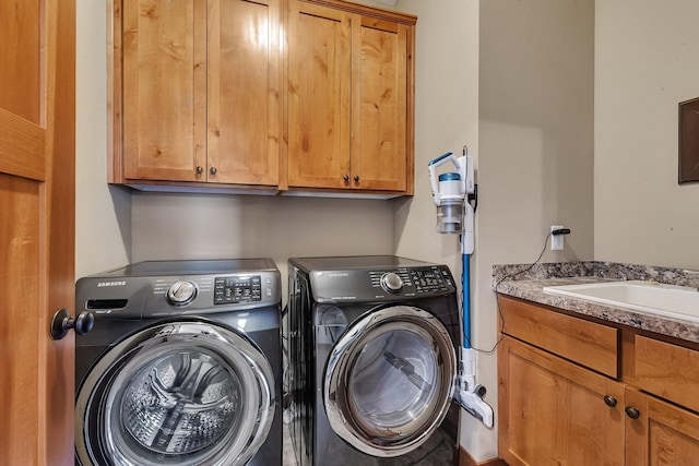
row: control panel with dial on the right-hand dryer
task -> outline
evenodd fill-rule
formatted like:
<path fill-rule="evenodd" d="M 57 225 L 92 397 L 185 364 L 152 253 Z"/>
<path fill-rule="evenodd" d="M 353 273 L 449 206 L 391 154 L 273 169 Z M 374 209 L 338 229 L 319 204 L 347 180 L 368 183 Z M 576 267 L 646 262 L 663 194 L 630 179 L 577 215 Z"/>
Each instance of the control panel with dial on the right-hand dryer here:
<path fill-rule="evenodd" d="M 318 302 L 399 301 L 457 291 L 446 265 L 377 270 L 313 271 Z"/>

